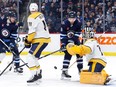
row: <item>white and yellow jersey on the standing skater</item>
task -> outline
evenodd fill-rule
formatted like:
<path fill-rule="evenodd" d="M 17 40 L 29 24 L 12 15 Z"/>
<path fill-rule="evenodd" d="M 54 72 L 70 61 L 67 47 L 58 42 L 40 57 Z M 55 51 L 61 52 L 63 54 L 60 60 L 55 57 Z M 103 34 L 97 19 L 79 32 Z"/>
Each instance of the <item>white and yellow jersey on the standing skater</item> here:
<path fill-rule="evenodd" d="M 40 12 L 34 12 L 29 15 L 28 20 L 28 38 L 27 40 L 31 43 L 49 43 L 50 36 L 48 26 L 46 24 L 44 15 Z"/>

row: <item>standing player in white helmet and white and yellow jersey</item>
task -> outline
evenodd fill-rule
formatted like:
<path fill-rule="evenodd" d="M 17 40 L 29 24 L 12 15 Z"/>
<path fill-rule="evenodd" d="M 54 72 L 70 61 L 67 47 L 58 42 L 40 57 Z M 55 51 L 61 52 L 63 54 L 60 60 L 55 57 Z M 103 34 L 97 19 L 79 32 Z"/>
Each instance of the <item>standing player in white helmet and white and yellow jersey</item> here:
<path fill-rule="evenodd" d="M 31 3 L 29 9 L 31 14 L 27 20 L 29 31 L 25 39 L 25 47 L 30 48 L 27 63 L 32 74 L 27 83 L 32 83 L 42 78 L 38 59 L 50 42 L 50 37 L 44 15 L 38 12 L 38 5 Z"/>

